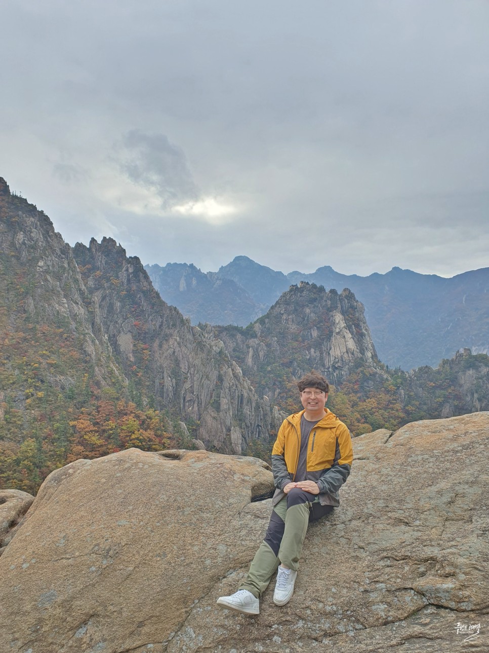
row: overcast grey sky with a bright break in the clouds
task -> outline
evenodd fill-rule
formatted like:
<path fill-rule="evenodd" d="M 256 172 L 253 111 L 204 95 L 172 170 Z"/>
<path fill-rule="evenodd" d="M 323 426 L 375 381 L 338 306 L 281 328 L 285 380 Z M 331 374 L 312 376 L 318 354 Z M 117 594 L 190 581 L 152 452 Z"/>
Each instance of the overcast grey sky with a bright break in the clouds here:
<path fill-rule="evenodd" d="M 489 266 L 486 0 L 4 0 L 0 176 L 74 244 Z"/>

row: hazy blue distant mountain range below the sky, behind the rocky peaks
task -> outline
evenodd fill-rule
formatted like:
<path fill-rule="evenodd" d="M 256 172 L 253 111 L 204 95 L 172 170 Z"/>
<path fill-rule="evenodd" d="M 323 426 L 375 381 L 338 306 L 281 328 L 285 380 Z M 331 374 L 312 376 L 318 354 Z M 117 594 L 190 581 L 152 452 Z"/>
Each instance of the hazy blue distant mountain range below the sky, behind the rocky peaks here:
<path fill-rule="evenodd" d="M 162 298 L 193 323 L 246 326 L 264 315 L 291 284 L 308 281 L 326 290 L 348 288 L 364 304 L 379 358 L 389 367 L 436 367 L 458 349 L 489 351 L 489 268 L 446 279 L 394 267 L 368 277 L 335 272 L 283 274 L 238 256 L 218 272 L 193 264 L 145 266 Z"/>

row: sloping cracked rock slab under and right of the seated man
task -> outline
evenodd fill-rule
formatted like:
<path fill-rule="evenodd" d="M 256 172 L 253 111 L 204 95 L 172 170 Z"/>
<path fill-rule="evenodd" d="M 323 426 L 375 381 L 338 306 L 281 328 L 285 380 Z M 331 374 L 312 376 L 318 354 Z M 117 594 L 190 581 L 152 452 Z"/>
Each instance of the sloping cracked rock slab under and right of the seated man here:
<path fill-rule="evenodd" d="M 486 652 L 488 439 L 489 413 L 355 438 L 342 504 L 310 527 L 290 603 L 278 609 L 268 591 L 252 620 L 216 612 L 239 569 L 194 607 L 168 652 Z M 465 642 L 459 623 L 481 624 L 479 637 Z"/>

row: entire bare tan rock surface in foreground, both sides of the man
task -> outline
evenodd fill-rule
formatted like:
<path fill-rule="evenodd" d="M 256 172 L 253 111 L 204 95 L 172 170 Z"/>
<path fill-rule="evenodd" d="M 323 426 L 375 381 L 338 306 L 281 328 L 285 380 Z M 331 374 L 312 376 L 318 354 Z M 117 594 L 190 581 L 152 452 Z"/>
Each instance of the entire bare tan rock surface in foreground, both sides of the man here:
<path fill-rule="evenodd" d="M 254 458 L 130 449 L 58 470 L 0 558 L 0 650 L 447 653 L 489 649 L 489 413 L 353 440 L 290 603 L 223 611 L 265 532 Z M 464 641 L 457 624 L 481 624 Z"/>

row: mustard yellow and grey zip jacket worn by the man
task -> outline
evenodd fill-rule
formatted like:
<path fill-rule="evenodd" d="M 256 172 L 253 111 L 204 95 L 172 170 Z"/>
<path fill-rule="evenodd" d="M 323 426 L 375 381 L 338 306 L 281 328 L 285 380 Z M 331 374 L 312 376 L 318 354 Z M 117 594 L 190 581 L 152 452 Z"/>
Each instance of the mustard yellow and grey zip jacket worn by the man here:
<path fill-rule="evenodd" d="M 323 505 L 340 505 L 338 490 L 348 479 L 353 460 L 347 426 L 325 408 L 326 415 L 311 429 L 307 446 L 306 479 L 319 486 Z M 272 450 L 272 471 L 277 491 L 273 505 L 284 496 L 282 488 L 294 480 L 301 450 L 301 417 L 293 413 L 282 422 Z"/>

